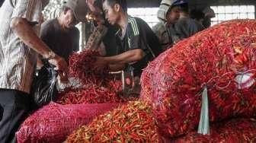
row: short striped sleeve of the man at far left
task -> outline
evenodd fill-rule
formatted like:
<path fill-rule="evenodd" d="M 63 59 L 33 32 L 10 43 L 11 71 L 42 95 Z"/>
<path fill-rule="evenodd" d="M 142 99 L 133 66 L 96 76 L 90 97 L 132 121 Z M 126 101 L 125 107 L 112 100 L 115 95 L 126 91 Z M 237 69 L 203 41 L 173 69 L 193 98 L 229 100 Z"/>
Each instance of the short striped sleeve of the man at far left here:
<path fill-rule="evenodd" d="M 23 17 L 29 22 L 40 23 L 40 15 L 42 11 L 42 0 L 17 0 L 11 18 Z"/>

